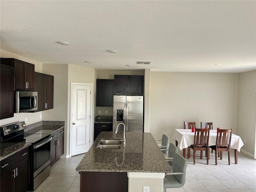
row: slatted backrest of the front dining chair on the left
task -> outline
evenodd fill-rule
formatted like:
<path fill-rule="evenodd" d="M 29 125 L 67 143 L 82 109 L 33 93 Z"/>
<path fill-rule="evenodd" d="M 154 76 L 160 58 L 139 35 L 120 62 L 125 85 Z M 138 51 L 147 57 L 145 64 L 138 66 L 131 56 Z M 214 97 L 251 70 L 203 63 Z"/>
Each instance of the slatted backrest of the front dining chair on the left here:
<path fill-rule="evenodd" d="M 209 143 L 210 129 L 195 129 L 194 147 L 206 147 Z"/>

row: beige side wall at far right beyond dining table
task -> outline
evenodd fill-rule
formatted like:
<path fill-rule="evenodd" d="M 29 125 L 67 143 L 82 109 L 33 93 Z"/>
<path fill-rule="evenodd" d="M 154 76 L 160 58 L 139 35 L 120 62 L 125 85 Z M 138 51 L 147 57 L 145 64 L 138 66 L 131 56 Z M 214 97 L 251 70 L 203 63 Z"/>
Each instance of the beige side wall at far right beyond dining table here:
<path fill-rule="evenodd" d="M 237 134 L 242 138 L 242 150 L 254 154 L 256 130 L 256 70 L 239 74 Z"/>

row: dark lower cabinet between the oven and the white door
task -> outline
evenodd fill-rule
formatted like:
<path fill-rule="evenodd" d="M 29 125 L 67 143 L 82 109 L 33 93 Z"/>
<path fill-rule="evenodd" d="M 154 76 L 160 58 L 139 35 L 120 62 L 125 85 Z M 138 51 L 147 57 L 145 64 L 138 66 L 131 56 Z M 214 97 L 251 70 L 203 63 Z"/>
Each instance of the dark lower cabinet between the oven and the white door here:
<path fill-rule="evenodd" d="M 52 141 L 51 141 L 51 166 L 54 165 L 59 159 L 60 156 L 64 154 L 64 128 L 54 132 L 51 134 Z"/>

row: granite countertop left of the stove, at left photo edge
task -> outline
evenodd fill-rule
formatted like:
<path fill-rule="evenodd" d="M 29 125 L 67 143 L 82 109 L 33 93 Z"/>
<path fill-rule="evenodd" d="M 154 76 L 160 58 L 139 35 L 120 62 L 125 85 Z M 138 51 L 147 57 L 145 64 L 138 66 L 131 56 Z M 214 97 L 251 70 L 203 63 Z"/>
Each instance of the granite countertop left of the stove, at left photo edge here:
<path fill-rule="evenodd" d="M 25 142 L 2 142 L 0 146 L 0 161 L 30 145 L 31 143 Z"/>

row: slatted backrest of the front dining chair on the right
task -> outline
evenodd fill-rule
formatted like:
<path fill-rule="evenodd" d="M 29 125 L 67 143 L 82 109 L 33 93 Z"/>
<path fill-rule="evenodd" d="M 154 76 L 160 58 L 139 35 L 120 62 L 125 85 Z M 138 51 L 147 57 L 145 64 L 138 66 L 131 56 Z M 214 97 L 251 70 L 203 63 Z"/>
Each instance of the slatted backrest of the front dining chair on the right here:
<path fill-rule="evenodd" d="M 216 147 L 230 147 L 232 129 L 218 129 Z"/>

